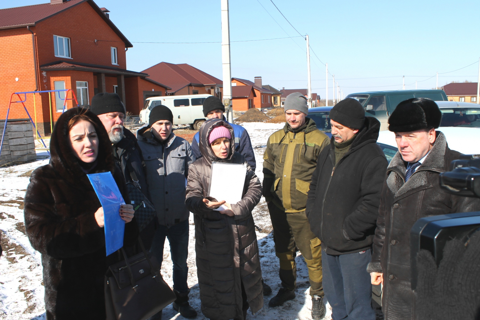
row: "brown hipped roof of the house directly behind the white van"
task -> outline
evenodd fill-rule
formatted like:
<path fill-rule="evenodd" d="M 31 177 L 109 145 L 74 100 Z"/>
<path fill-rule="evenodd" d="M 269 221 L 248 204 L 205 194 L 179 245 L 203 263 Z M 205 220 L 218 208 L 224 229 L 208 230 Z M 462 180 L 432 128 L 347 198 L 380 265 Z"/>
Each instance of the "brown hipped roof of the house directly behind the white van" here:
<path fill-rule="evenodd" d="M 149 78 L 158 83 L 166 83 L 172 88 L 170 92 L 177 92 L 187 85 L 195 87 L 222 86 L 220 79 L 186 63 L 160 62 L 142 72 L 148 73 Z"/>

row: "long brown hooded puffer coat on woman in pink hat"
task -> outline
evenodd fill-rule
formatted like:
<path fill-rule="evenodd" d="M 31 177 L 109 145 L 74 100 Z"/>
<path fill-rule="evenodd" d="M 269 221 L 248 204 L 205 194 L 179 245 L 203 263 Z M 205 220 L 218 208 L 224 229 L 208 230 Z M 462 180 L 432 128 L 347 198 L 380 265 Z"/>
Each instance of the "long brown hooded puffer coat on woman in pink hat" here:
<path fill-rule="evenodd" d="M 233 140 L 233 129 L 223 120 L 207 120 L 200 128 L 202 157 L 189 167 L 185 204 L 194 213 L 202 312 L 212 320 L 241 320 L 241 283 L 252 313 L 264 304 L 262 272 L 252 217 L 252 210 L 262 196 L 262 186 L 250 166 L 247 166 L 242 200 L 231 205 L 235 214 L 233 217 L 213 211 L 204 204 L 202 200 L 208 195 L 212 161 L 246 163 L 243 155 L 235 152 L 233 143 L 227 159 L 216 158 L 208 143 L 208 136 L 213 128 L 221 125 L 230 130 Z M 225 177 L 225 188 L 228 188 L 228 177 Z"/>

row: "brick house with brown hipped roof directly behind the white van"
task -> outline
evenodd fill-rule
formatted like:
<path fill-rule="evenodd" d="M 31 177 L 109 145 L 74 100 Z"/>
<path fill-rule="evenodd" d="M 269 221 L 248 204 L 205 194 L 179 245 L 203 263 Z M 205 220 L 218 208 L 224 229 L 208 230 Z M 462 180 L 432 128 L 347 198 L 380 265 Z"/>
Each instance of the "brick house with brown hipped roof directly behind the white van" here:
<path fill-rule="evenodd" d="M 150 75 L 148 79 L 168 85 L 168 95 L 209 94 L 222 99 L 223 82 L 187 63 L 160 62 L 142 72 Z"/>

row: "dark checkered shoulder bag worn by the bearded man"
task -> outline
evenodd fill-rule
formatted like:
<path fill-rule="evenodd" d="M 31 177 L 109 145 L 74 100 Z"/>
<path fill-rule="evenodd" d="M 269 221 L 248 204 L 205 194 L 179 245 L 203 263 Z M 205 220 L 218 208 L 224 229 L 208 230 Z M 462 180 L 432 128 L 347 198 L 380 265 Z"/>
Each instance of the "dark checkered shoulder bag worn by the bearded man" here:
<path fill-rule="evenodd" d="M 155 207 L 142 192 L 140 184 L 138 183 L 137 175 L 132 167 L 132 164 L 127 162 L 128 171 L 132 182 L 127 182 L 128 195 L 130 197 L 130 204 L 135 210 L 135 219 L 137 220 L 138 231 L 142 231 L 149 223 L 156 217 Z"/>

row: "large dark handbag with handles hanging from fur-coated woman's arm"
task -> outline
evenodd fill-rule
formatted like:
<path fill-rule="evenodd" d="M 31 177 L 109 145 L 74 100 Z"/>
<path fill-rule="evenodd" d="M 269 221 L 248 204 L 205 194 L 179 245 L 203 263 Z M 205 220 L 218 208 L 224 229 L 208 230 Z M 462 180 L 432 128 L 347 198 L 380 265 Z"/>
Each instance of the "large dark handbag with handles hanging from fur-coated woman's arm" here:
<path fill-rule="evenodd" d="M 155 257 L 145 251 L 108 268 L 105 275 L 105 307 L 107 320 L 145 320 L 170 303 L 176 296 L 160 274 Z"/>

